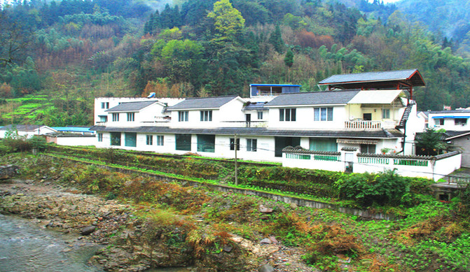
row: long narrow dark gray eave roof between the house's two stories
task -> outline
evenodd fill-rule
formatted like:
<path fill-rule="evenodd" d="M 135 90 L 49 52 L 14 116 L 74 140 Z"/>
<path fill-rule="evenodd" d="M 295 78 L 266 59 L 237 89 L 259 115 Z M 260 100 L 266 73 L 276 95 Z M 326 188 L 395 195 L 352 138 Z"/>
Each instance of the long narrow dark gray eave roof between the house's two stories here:
<path fill-rule="evenodd" d="M 240 136 L 303 136 L 319 138 L 401 138 L 397 129 L 279 130 L 266 128 L 221 127 L 216 129 L 173 129 L 170 127 L 91 127 L 92 131 L 140 132 L 162 134 L 217 134 Z"/>

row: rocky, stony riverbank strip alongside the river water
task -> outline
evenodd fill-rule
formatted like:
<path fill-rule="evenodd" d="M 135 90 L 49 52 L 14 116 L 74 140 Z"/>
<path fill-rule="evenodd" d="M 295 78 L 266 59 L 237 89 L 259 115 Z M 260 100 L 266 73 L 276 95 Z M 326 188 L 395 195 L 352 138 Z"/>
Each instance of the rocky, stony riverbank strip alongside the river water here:
<path fill-rule="evenodd" d="M 273 267 L 275 271 L 312 271 L 300 259 L 302 250 L 286 247 L 274 236 L 253 241 L 226 233 L 218 234 L 225 238 L 219 241 L 209 234 L 212 227 L 203 216 L 181 215 L 180 221 L 195 219 L 202 226 L 187 234 L 178 224 L 162 227 L 155 220 L 144 220 L 139 214 L 142 209 L 148 211 L 148 206 L 84 194 L 82 189 L 42 175 L 2 181 L 0 213 L 26 217 L 38 227 L 79 234 L 78 239 L 104 245 L 90 263 L 106 271 L 174 266 L 191 266 L 193 271 L 273 271 Z M 260 210 L 266 212 L 262 206 Z"/>

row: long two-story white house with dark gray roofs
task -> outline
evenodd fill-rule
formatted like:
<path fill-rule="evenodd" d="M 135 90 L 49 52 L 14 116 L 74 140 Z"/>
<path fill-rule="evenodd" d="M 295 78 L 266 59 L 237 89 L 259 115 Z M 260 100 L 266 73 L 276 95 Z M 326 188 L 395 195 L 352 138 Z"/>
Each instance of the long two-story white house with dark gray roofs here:
<path fill-rule="evenodd" d="M 416 72 L 413 71 L 414 80 Z M 334 157 L 341 166 L 322 169 L 338 171 L 352 169 L 355 161 L 350 155 L 413 155 L 414 134 L 424 129 L 424 122 L 417 118 L 416 103 L 407 97 L 410 90 L 341 90 L 340 83 L 335 84 L 339 90 L 326 92 L 298 92 L 299 85 L 286 85 L 284 92 L 273 85 L 277 96 L 271 95 L 268 85 L 251 85 L 252 96 L 258 94 L 257 99 L 191 98 L 173 106 L 165 106 L 160 99 L 139 99 L 112 107 L 110 103 L 108 109 L 102 110 L 106 101 L 97 99 L 95 108 L 104 112 L 107 121 L 97 118 L 92 129 L 97 131 L 100 148 L 197 152 L 225 158 L 233 158 L 236 148 L 242 159 L 284 162 L 288 157 L 302 157 L 301 152 L 299 155 L 295 150 L 284 150 L 291 146 L 310 150 L 319 158 Z M 263 94 L 269 90 L 269 99 L 259 99 L 260 91 L 255 87 L 262 87 Z M 293 166 L 303 164 L 294 162 Z"/>

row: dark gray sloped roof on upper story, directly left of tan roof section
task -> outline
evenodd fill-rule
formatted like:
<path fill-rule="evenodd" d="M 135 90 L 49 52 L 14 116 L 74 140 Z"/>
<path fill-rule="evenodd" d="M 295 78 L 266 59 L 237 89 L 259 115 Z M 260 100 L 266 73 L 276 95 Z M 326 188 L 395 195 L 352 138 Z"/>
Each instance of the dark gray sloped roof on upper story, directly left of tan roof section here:
<path fill-rule="evenodd" d="M 265 106 L 302 106 L 302 105 L 332 105 L 349 102 L 359 90 L 342 90 L 328 92 L 298 92 L 280 94 Z"/>

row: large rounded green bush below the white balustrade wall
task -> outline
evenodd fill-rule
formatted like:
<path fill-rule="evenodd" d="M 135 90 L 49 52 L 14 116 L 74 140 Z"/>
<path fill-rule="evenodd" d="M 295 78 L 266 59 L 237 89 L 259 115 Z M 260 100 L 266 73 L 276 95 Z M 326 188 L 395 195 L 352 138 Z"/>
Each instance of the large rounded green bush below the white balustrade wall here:
<path fill-rule="evenodd" d="M 410 192 L 407 179 L 398 176 L 394 171 L 344 176 L 335 186 L 340 196 L 355 199 L 363 206 L 371 206 L 373 203 L 396 206 L 401 204 L 402 197 Z"/>

